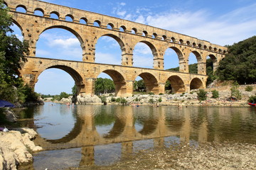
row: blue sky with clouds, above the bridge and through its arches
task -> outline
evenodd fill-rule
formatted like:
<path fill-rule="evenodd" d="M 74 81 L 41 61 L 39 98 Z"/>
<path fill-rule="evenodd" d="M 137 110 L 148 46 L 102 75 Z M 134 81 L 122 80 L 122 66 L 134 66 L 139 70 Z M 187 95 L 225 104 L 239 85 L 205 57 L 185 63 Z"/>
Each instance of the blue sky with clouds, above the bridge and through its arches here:
<path fill-rule="evenodd" d="M 256 35 L 255 0 L 45 1 L 156 26 L 218 45 L 233 45 L 234 42 Z M 22 38 L 20 30 L 15 27 L 14 30 Z M 36 45 L 36 55 L 82 60 L 82 50 L 75 35 L 56 28 L 41 34 Z M 95 62 L 120 64 L 119 45 L 112 38 L 102 37 L 97 42 L 95 57 Z M 176 53 L 167 50 L 164 62 L 164 69 L 178 67 Z M 189 63 L 194 62 L 196 57 L 191 55 Z M 134 49 L 134 66 L 152 68 L 152 63 L 151 50 L 139 43 Z M 104 74 L 100 76 L 107 77 Z M 61 91 L 70 93 L 73 84 L 69 74 L 60 69 L 48 69 L 38 78 L 35 90 L 41 94 L 60 94 Z"/>

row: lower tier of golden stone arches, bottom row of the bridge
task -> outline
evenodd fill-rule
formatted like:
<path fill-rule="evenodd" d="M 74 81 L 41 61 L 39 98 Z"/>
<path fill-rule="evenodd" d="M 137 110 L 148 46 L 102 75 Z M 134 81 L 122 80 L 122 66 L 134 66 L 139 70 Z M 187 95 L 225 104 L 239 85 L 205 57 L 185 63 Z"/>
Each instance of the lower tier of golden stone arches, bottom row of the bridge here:
<path fill-rule="evenodd" d="M 56 68 L 70 74 L 78 86 L 79 94 L 95 94 L 95 80 L 104 72 L 114 81 L 116 96 L 132 96 L 133 83 L 137 77 L 144 79 L 146 92 L 164 94 L 166 81 L 171 82 L 174 93 L 183 93 L 190 89 L 205 88 L 206 76 L 198 74 L 183 74 L 180 72 L 165 72 L 156 69 L 123 67 L 109 64 L 93 64 L 68 60 L 51 60 L 46 58 L 26 57 L 20 76 L 25 84 L 34 88 L 38 76 L 46 69 Z"/>

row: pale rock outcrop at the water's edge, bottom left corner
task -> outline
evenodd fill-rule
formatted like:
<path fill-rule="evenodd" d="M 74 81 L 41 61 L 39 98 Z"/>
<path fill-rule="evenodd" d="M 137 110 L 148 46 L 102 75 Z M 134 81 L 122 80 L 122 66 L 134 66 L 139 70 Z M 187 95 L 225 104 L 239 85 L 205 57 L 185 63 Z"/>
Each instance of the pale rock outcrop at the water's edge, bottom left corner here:
<path fill-rule="evenodd" d="M 28 128 L 0 132 L 0 169 L 17 169 L 19 164 L 33 162 L 32 152 L 42 150 L 32 141 L 37 133 Z"/>

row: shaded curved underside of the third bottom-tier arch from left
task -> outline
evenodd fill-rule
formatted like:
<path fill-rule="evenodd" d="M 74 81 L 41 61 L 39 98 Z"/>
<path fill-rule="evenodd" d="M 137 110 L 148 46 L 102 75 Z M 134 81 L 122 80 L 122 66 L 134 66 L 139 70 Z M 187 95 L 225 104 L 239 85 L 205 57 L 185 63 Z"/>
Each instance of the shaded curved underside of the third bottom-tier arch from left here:
<path fill-rule="evenodd" d="M 153 92 L 154 94 L 159 94 L 159 84 L 156 77 L 153 74 L 144 72 L 139 74 L 138 76 L 142 77 L 142 79 L 144 80 L 144 84 L 146 86 L 146 93 Z"/>

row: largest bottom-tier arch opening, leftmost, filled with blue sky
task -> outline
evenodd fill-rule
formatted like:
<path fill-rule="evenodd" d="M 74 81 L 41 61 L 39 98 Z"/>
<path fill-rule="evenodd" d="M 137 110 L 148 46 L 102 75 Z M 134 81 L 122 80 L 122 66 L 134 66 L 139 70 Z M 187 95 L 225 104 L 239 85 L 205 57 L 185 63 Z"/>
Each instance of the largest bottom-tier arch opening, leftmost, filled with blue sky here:
<path fill-rule="evenodd" d="M 74 69 L 64 66 L 55 65 L 48 67 L 37 77 L 35 91 L 39 94 L 58 95 L 61 92 L 73 94 L 73 88 L 76 86 L 76 94 L 79 94 L 85 85 L 82 84 L 82 77 Z"/>

